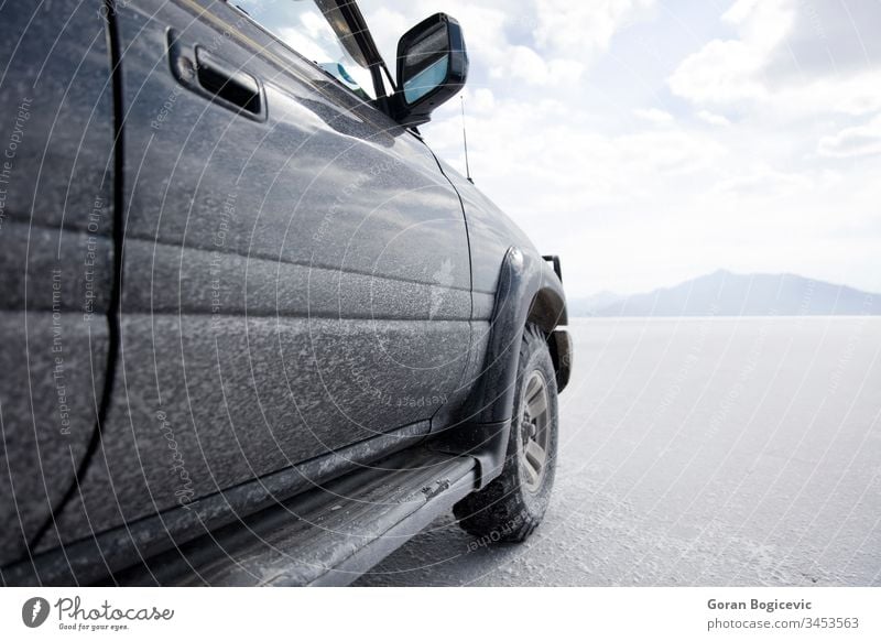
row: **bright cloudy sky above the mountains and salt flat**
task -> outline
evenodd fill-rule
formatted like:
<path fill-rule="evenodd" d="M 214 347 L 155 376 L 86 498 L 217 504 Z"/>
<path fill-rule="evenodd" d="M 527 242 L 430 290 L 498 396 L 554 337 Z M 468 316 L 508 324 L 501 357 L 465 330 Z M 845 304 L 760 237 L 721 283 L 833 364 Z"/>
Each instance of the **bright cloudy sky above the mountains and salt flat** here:
<path fill-rule="evenodd" d="M 881 292 L 879 0 L 359 4 L 387 61 L 459 21 L 471 174 L 570 297 L 718 269 Z M 464 173 L 459 102 L 421 130 Z"/>

